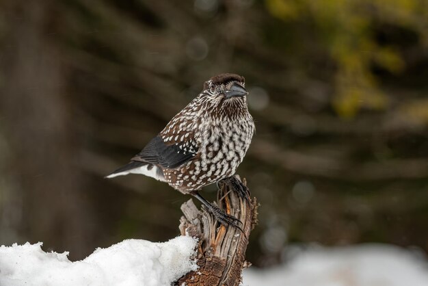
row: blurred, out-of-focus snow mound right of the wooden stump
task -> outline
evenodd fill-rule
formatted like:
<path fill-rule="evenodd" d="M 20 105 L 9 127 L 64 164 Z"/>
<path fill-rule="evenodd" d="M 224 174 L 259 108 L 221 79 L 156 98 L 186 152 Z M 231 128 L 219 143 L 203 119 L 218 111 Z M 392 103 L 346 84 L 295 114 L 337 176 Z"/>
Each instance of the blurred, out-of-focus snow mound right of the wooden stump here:
<path fill-rule="evenodd" d="M 428 263 L 397 246 L 307 250 L 288 264 L 243 272 L 245 286 L 428 286 Z"/>

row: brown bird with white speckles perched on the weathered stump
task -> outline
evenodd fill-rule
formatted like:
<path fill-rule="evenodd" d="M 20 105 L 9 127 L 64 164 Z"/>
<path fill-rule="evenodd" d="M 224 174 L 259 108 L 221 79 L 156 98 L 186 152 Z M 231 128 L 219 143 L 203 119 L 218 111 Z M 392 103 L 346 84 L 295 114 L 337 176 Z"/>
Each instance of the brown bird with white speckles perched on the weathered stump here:
<path fill-rule="evenodd" d="M 233 175 L 250 147 L 255 130 L 248 111 L 244 77 L 222 73 L 204 82 L 202 92 L 131 158 L 107 175 L 144 174 L 196 197 L 224 225 L 239 227 L 237 218 L 203 198 L 199 191 L 230 180 L 240 196 L 248 189 Z"/>

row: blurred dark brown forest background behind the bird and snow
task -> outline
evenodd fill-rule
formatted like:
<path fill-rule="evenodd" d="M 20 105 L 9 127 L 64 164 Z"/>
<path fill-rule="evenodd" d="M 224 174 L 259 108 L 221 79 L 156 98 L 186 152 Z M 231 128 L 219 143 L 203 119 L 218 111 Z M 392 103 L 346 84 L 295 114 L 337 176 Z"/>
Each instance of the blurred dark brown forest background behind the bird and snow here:
<path fill-rule="evenodd" d="M 103 177 L 224 72 L 256 120 L 238 171 L 261 204 L 249 261 L 428 251 L 425 0 L 1 0 L 0 244 L 82 259 L 178 235 L 189 196 Z"/>

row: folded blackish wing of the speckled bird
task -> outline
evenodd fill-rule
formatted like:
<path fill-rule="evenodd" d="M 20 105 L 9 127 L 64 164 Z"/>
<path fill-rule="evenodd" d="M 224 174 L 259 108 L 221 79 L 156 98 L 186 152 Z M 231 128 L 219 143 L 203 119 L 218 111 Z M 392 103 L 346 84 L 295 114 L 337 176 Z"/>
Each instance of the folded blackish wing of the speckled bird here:
<path fill-rule="evenodd" d="M 191 144 L 191 141 L 171 141 L 172 140 L 164 142 L 161 135 L 157 135 L 131 160 L 144 161 L 150 164 L 160 165 L 163 168 L 177 168 L 193 158 L 198 152 L 198 148 Z"/>

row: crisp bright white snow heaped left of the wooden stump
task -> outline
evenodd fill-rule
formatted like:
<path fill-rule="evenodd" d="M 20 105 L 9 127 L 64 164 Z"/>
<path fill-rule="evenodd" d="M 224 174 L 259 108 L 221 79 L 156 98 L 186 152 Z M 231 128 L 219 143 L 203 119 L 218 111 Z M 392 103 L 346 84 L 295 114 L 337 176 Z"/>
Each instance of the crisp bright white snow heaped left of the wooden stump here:
<path fill-rule="evenodd" d="M 44 252 L 41 242 L 1 246 L 0 285 L 169 286 L 197 269 L 196 243 L 187 236 L 163 243 L 127 239 L 76 262 L 68 252 Z"/>

